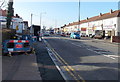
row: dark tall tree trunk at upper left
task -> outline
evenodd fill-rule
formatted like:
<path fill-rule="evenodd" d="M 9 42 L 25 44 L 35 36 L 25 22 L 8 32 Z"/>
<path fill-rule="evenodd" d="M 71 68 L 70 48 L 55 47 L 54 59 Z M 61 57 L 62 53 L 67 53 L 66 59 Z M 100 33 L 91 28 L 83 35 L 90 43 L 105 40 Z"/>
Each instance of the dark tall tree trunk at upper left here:
<path fill-rule="evenodd" d="M 12 16 L 14 16 L 13 0 L 9 0 L 7 13 L 7 28 L 10 28 Z"/>

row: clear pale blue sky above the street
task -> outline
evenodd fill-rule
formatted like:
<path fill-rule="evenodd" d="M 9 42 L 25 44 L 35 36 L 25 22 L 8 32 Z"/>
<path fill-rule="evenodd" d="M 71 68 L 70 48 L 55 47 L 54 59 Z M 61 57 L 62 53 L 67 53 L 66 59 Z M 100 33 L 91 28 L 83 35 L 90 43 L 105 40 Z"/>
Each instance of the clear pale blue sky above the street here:
<path fill-rule="evenodd" d="M 19 14 L 24 21 L 31 24 L 41 24 L 50 27 L 61 27 L 78 21 L 79 3 L 76 2 L 14 2 L 14 13 Z M 118 10 L 118 2 L 80 2 L 80 19 L 93 17 L 99 13 L 108 13 L 110 9 Z"/>

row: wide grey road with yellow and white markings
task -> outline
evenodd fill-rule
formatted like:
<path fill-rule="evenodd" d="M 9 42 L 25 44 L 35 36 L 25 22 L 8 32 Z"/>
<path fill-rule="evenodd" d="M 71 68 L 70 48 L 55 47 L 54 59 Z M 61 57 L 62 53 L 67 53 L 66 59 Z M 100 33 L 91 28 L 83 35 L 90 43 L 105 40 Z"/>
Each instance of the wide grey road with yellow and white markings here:
<path fill-rule="evenodd" d="M 44 37 L 44 41 L 65 79 L 82 82 L 119 79 L 118 45 L 86 38 L 73 40 L 58 36 Z"/>

